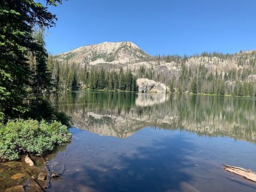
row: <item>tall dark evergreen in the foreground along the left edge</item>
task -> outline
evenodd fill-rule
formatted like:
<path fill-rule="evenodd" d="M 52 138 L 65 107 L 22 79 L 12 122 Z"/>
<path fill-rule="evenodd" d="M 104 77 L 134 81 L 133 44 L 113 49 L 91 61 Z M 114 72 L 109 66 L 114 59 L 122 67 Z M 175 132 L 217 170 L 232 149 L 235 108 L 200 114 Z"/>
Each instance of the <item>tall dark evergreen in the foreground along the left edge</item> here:
<path fill-rule="evenodd" d="M 61 0 L 46 0 L 57 6 Z M 56 15 L 32 0 L 0 1 L 0 118 L 16 116 L 26 110 L 30 71 L 29 52 L 42 50 L 33 37 L 34 26 L 52 27 Z"/>

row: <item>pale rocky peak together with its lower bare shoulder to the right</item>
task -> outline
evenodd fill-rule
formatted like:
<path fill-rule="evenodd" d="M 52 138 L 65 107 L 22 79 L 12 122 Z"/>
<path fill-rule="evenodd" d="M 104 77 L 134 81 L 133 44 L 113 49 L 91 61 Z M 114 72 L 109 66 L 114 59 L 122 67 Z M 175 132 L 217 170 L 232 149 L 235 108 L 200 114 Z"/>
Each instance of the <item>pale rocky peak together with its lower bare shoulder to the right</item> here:
<path fill-rule="evenodd" d="M 87 45 L 77 49 L 59 53 L 54 56 L 60 62 L 75 62 L 82 66 L 108 67 L 124 70 L 138 71 L 141 66 L 145 70 L 153 70 L 157 73 L 168 75 L 179 75 L 181 67 L 176 62 L 154 61 L 153 56 L 141 50 L 132 42 L 104 42 L 100 44 Z"/>

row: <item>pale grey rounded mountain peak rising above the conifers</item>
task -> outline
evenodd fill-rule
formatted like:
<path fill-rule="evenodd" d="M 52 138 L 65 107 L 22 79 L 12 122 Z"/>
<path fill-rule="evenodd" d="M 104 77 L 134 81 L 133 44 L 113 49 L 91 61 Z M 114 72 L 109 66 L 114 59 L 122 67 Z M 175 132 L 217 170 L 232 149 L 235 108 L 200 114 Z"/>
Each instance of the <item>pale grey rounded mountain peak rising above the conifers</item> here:
<path fill-rule="evenodd" d="M 145 60 L 151 56 L 142 51 L 132 42 L 104 42 L 100 44 L 87 45 L 77 49 L 55 55 L 59 61 L 69 60 L 76 63 L 132 63 Z"/>

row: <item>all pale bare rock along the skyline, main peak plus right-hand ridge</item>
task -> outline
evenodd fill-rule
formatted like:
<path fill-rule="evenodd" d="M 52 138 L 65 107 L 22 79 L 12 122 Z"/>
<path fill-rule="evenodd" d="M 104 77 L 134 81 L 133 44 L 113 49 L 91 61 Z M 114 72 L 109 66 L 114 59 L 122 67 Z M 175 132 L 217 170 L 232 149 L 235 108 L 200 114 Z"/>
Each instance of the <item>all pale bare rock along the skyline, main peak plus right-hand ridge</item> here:
<path fill-rule="evenodd" d="M 255 63 L 256 51 L 244 51 L 235 54 L 220 54 L 219 56 L 193 55 L 186 59 L 185 65 L 188 68 L 204 66 L 210 71 L 243 70 Z M 222 57 L 222 56 L 223 57 Z M 175 60 L 157 60 L 141 50 L 132 42 L 104 42 L 100 44 L 87 45 L 77 49 L 59 53 L 54 56 L 61 62 L 76 62 L 88 66 L 110 66 L 110 68 L 131 69 L 133 72 L 138 71 L 141 66 L 145 70 L 152 70 L 155 74 L 162 74 L 166 77 L 179 76 L 182 70 L 180 59 Z M 225 59 L 223 59 L 225 58 Z M 241 63 L 243 62 L 243 63 Z M 255 78 L 250 76 L 248 78 Z"/>

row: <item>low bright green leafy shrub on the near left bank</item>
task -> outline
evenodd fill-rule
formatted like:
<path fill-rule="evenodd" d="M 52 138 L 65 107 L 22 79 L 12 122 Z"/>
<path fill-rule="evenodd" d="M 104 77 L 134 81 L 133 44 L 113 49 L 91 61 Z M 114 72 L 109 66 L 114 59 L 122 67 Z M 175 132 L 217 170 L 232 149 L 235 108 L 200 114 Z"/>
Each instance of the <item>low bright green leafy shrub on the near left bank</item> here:
<path fill-rule="evenodd" d="M 57 121 L 9 121 L 0 125 L 0 159 L 11 161 L 20 154 L 45 155 L 71 137 L 68 127 Z"/>

